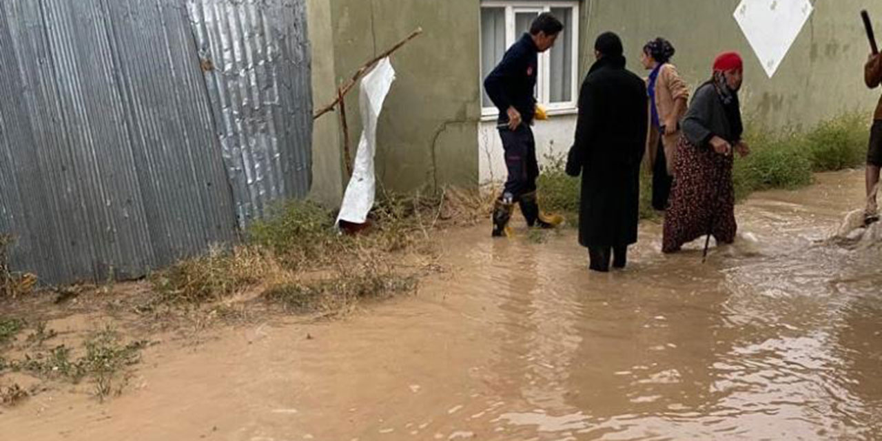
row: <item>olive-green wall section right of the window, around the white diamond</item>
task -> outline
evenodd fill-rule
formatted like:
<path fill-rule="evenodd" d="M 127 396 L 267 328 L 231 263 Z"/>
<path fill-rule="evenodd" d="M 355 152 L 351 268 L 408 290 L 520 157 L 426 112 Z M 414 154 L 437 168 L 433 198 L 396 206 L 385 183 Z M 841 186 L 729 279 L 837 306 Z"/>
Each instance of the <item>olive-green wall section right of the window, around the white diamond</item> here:
<path fill-rule="evenodd" d="M 809 22 L 770 79 L 732 17 L 737 0 L 586 0 L 581 71 L 584 76 L 594 60 L 594 38 L 609 30 L 622 37 L 629 68 L 645 76 L 639 51 L 646 41 L 664 36 L 676 47 L 673 63 L 693 86 L 709 78 L 717 53 L 740 51 L 745 59 L 742 108 L 754 122 L 799 129 L 850 110 L 865 112 L 869 121 L 879 93 L 863 85 L 870 49 L 858 14 L 868 9 L 882 32 L 882 4 L 812 3 Z"/>

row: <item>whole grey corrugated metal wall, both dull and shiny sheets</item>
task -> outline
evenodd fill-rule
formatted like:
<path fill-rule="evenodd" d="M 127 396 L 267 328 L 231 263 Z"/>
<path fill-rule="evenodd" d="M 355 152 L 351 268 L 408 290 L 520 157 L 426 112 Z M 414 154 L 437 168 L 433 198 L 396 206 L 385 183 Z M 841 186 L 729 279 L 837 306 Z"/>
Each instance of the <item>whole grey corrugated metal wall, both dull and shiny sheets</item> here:
<path fill-rule="evenodd" d="M 250 21 L 225 34 L 207 9 Z M 13 269 L 49 283 L 138 277 L 305 194 L 304 18 L 303 0 L 0 2 Z"/>

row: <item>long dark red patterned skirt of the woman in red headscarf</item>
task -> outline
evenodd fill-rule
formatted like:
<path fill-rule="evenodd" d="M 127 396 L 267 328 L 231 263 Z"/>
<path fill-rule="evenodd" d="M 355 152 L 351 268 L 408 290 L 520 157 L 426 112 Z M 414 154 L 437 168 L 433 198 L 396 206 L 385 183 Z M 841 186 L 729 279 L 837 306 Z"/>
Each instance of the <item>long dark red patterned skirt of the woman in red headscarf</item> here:
<path fill-rule="evenodd" d="M 732 243 L 737 230 L 732 155 L 721 155 L 709 146 L 693 146 L 681 136 L 674 170 L 662 252 L 680 250 L 684 243 L 708 232 L 718 243 Z"/>

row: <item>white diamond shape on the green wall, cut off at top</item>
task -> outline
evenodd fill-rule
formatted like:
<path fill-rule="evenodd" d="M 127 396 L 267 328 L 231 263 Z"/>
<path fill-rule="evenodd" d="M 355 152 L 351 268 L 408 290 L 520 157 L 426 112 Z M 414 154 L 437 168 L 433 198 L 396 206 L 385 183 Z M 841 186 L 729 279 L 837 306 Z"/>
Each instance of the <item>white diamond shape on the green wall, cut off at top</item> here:
<path fill-rule="evenodd" d="M 741 0 L 735 20 L 772 78 L 811 15 L 809 0 Z"/>

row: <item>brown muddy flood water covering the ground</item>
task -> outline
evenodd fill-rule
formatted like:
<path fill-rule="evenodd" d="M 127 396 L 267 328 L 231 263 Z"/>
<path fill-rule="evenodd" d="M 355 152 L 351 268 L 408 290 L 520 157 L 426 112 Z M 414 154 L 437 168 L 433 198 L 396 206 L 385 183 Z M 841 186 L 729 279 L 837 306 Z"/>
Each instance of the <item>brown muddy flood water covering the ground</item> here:
<path fill-rule="evenodd" d="M 882 246 L 825 241 L 863 174 L 817 179 L 738 206 L 705 265 L 653 222 L 609 274 L 573 230 L 455 230 L 416 295 L 150 348 L 121 397 L 40 394 L 0 439 L 882 439 Z"/>

